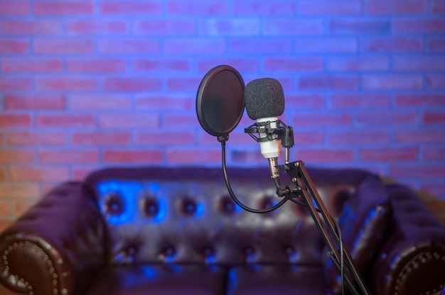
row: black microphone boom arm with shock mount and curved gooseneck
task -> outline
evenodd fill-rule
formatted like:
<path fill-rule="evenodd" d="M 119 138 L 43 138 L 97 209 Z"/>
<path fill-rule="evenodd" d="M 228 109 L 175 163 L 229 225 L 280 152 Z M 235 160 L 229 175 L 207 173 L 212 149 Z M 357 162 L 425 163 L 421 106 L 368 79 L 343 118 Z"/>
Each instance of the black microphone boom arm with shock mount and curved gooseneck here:
<path fill-rule="evenodd" d="M 283 126 L 280 126 L 280 124 Z M 289 148 L 294 145 L 293 129 L 290 126 L 288 127 L 284 125 L 284 123 L 279 120 L 277 120 L 278 128 L 269 127 L 269 123 L 262 123 L 261 126 L 259 126 L 258 123 L 254 123 L 252 126 L 245 128 L 245 133 L 249 133 L 249 135 L 257 142 L 262 140 L 271 140 L 272 134 L 279 135 L 279 138 L 282 139 L 282 145 L 286 149 L 286 160 L 285 164 L 278 165 L 277 169 L 286 172 L 286 174 L 288 174 L 291 178 L 291 181 L 294 182 L 295 187 L 281 187 L 279 177 L 275 177 L 274 184 L 275 187 L 277 187 L 277 195 L 283 197 L 282 201 L 270 208 L 265 209 L 253 209 L 242 204 L 233 193 L 227 177 L 225 165 L 225 141 L 227 141 L 229 137 L 228 135 L 221 135 L 218 136 L 218 141 L 220 141 L 222 146 L 224 179 L 233 201 L 235 201 L 235 203 L 244 210 L 252 213 L 266 213 L 273 211 L 282 206 L 288 200 L 291 200 L 296 204 L 306 206 L 311 213 L 313 221 L 316 223 L 318 231 L 321 233 L 321 236 L 328 247 L 328 255 L 331 257 L 331 260 L 333 261 L 333 264 L 336 265 L 338 271 L 341 272 L 342 290 L 344 291 L 343 278 L 345 278 L 345 281 L 348 284 L 349 290 L 352 294 L 370 294 L 370 291 L 368 291 L 368 288 L 365 286 L 363 277 L 355 267 L 350 253 L 343 245 L 341 230 L 338 228 L 337 223 L 333 220 L 332 216 L 329 215 L 326 206 L 323 204 L 321 196 L 318 194 L 309 173 L 304 167 L 304 162 L 301 160 L 289 162 Z M 267 133 L 267 136 L 259 138 L 252 135 L 252 133 Z M 302 198 L 304 202 L 297 201 L 296 198 Z"/>

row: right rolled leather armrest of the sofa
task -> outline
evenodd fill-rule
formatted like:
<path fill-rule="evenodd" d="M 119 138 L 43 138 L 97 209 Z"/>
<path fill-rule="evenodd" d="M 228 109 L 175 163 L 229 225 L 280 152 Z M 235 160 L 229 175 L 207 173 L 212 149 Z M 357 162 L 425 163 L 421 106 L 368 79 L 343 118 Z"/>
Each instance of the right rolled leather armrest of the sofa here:
<path fill-rule="evenodd" d="M 373 293 L 435 294 L 445 284 L 445 228 L 411 189 L 387 190 L 392 225 L 372 270 Z"/>

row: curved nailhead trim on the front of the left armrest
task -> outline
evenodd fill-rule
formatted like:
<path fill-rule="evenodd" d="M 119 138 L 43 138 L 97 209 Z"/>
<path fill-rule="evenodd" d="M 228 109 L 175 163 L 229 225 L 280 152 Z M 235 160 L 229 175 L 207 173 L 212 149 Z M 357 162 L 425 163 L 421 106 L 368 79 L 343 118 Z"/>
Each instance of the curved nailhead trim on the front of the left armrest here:
<path fill-rule="evenodd" d="M 7 250 L 4 250 L 3 252 L 3 256 L 2 261 L 3 264 L 5 265 L 5 270 L 9 271 L 9 262 L 8 262 L 8 255 L 12 250 L 21 248 L 21 247 L 33 247 L 34 249 L 38 250 L 38 252 L 43 256 L 43 259 L 45 260 L 46 265 L 48 265 L 48 271 L 49 273 L 52 275 L 53 277 L 53 294 L 59 294 L 59 291 L 57 289 L 58 286 L 58 275 L 55 273 L 55 268 L 53 267 L 53 262 L 50 260 L 49 256 L 47 254 L 45 254 L 45 252 L 43 251 L 43 249 L 41 247 L 39 247 L 36 243 L 32 243 L 28 240 L 26 240 L 25 242 L 18 242 L 18 243 L 14 243 L 13 245 L 9 245 Z M 23 278 L 19 278 L 17 275 L 14 275 L 14 278 L 20 282 L 22 282 L 23 284 L 25 284 L 25 286 L 28 289 L 28 295 L 34 295 L 34 291 L 33 291 L 33 286 L 31 286 L 31 284 L 29 284 L 28 281 L 25 281 L 25 279 Z"/>

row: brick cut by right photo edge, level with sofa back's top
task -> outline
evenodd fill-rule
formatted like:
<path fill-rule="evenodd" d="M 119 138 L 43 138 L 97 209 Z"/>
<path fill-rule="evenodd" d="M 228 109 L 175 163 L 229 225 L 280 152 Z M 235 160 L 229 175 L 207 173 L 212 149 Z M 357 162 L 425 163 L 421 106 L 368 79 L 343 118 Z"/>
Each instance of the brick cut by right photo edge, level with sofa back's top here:
<path fill-rule="evenodd" d="M 390 177 L 445 177 L 445 165 L 441 164 L 394 164 L 389 171 Z"/>

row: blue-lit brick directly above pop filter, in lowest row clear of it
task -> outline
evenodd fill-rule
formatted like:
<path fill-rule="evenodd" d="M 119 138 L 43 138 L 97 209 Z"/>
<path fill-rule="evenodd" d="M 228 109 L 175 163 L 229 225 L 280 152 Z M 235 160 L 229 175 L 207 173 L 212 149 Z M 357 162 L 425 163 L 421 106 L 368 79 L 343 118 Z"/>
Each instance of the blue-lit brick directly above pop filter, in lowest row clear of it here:
<path fill-rule="evenodd" d="M 163 52 L 178 55 L 211 55 L 225 53 L 223 38 L 171 38 L 163 42 Z"/>

